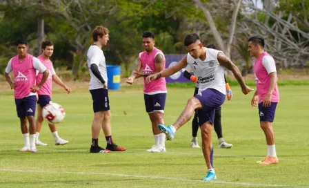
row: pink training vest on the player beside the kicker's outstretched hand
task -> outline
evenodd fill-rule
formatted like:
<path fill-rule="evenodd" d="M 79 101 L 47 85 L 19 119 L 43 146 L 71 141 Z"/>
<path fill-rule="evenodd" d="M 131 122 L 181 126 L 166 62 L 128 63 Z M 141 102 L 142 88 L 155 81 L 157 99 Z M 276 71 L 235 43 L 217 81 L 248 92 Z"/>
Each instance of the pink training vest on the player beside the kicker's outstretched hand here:
<path fill-rule="evenodd" d="M 139 59 L 141 59 L 141 65 L 143 68 L 143 73 L 154 73 L 156 71 L 155 68 L 155 57 L 156 55 L 161 54 L 163 55 L 162 51 L 154 48 L 152 50 L 152 53 L 150 55 L 147 54 L 147 51 L 143 51 L 139 54 Z M 164 55 L 163 55 L 164 57 Z M 164 57 L 163 62 L 164 68 L 166 67 L 166 60 Z M 157 93 L 166 93 L 166 79 L 164 77 L 161 77 L 159 79 L 156 79 L 150 83 L 146 83 L 146 77 L 143 77 L 143 93 L 148 95 L 154 95 Z"/>

